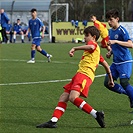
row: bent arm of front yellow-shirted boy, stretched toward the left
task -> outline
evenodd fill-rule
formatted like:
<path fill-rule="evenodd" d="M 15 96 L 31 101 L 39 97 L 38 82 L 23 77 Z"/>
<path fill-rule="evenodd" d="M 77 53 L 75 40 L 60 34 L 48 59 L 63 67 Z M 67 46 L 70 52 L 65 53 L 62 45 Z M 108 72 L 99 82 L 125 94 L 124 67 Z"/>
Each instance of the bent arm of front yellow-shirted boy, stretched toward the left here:
<path fill-rule="evenodd" d="M 95 45 L 83 45 L 83 46 L 77 46 L 77 47 L 73 47 L 70 51 L 69 51 L 69 55 L 70 57 L 74 56 L 74 52 L 77 50 L 87 50 L 87 51 L 93 51 L 95 50 Z"/>

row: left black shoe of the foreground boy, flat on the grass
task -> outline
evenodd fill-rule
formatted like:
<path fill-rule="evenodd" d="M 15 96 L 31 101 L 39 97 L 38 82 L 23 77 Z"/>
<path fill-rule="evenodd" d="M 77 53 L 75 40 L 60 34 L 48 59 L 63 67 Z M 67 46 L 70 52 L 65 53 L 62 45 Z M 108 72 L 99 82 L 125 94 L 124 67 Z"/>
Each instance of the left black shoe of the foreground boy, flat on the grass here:
<path fill-rule="evenodd" d="M 56 127 L 57 127 L 56 122 L 52 122 L 51 120 L 36 126 L 36 128 L 56 128 Z"/>

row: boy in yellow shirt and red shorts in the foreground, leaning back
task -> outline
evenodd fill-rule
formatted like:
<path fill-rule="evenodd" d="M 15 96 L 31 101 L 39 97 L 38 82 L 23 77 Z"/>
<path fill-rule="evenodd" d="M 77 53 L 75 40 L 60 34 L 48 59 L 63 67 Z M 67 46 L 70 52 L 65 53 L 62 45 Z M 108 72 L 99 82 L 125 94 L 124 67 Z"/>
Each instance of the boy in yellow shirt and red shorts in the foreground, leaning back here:
<path fill-rule="evenodd" d="M 73 57 L 75 51 L 84 50 L 81 61 L 79 63 L 79 69 L 77 70 L 75 76 L 72 78 L 71 82 L 63 87 L 64 92 L 59 98 L 59 102 L 53 112 L 51 120 L 46 123 L 37 125 L 37 128 L 56 128 L 56 123 L 64 114 L 68 101 L 87 114 L 91 114 L 102 128 L 105 127 L 104 112 L 96 111 L 87 102 L 80 98 L 80 96 L 85 98 L 88 96 L 89 87 L 94 80 L 95 70 L 99 64 L 99 60 L 108 73 L 109 86 L 113 86 L 114 83 L 110 73 L 109 65 L 102 58 L 102 56 L 100 57 L 100 48 L 96 42 L 100 36 L 99 30 L 94 26 L 89 26 L 84 30 L 84 34 L 86 45 L 73 47 L 69 51 L 70 57 Z"/>

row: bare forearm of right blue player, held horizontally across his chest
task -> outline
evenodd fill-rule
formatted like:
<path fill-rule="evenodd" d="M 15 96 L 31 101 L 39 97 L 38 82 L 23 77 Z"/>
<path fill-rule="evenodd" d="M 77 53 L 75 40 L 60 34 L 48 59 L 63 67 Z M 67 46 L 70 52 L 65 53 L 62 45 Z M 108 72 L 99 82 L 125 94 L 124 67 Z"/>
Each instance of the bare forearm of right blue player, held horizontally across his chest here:
<path fill-rule="evenodd" d="M 126 42 L 119 41 L 119 40 L 109 40 L 108 45 L 113 45 L 113 44 L 116 44 L 116 43 L 121 45 L 121 46 L 125 46 L 127 48 L 133 48 L 133 43 L 132 43 L 131 40 L 128 40 Z"/>

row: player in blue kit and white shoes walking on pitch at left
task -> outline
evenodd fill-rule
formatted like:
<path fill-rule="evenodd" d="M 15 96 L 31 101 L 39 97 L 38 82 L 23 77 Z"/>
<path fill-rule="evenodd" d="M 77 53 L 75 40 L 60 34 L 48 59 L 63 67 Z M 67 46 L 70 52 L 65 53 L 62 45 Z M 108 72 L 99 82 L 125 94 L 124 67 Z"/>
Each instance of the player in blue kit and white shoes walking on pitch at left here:
<path fill-rule="evenodd" d="M 33 41 L 31 46 L 31 60 L 29 60 L 27 63 L 35 63 L 35 50 L 46 56 L 48 58 L 48 62 L 50 62 L 50 58 L 52 57 L 52 55 L 48 54 L 40 47 L 41 37 L 44 38 L 45 26 L 42 21 L 37 17 L 37 10 L 35 8 L 31 9 L 31 16 L 32 19 L 29 20 L 29 28 L 26 32 L 26 35 L 28 36 L 28 33 L 31 32 Z M 42 34 L 40 35 L 41 30 Z"/>

